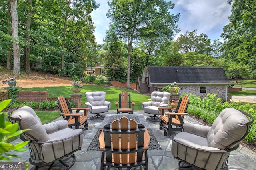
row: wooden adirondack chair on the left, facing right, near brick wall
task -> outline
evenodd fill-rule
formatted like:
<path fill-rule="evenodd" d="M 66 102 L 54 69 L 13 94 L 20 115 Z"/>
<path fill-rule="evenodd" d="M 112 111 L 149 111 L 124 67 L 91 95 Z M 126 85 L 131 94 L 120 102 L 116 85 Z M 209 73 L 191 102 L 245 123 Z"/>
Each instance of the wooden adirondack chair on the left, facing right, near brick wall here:
<path fill-rule="evenodd" d="M 59 96 L 58 104 L 60 106 L 61 114 L 64 120 L 68 120 L 68 127 L 75 126 L 76 129 L 85 128 L 88 130 L 88 123 L 87 123 L 87 112 L 90 108 L 71 108 L 67 98 L 63 96 Z M 72 110 L 76 110 L 76 113 L 73 113 Z M 79 113 L 80 110 L 84 110 L 84 114 Z"/>

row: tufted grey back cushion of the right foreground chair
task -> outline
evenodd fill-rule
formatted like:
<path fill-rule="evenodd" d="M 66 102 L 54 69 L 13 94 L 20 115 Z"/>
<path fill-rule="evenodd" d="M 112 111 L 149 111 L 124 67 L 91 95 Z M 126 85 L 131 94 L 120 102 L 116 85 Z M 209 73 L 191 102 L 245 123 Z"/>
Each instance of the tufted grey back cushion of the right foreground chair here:
<path fill-rule="evenodd" d="M 248 122 L 248 118 L 234 108 L 222 110 L 207 134 L 208 146 L 225 149 L 244 136 Z"/>

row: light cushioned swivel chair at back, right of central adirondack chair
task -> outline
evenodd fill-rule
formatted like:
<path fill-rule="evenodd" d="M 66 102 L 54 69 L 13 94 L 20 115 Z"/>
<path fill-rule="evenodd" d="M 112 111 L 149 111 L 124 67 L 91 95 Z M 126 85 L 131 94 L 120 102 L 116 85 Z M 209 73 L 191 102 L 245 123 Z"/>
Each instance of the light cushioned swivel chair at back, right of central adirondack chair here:
<path fill-rule="evenodd" d="M 168 101 L 171 94 L 168 92 L 151 92 L 151 101 L 142 103 L 142 110 L 145 113 L 154 114 L 154 116 L 148 116 L 148 120 L 160 122 L 160 110 L 158 107 L 168 107 Z"/>

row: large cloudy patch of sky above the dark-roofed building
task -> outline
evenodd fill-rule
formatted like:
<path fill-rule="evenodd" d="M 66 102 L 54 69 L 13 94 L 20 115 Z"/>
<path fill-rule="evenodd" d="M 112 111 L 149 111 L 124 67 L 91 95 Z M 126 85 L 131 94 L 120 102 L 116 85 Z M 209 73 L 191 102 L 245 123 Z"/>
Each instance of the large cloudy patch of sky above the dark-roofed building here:
<path fill-rule="evenodd" d="M 220 39 L 223 26 L 229 23 L 231 6 L 226 0 L 174 0 L 174 11 L 180 13 L 179 34 L 197 30 L 211 40 Z"/>

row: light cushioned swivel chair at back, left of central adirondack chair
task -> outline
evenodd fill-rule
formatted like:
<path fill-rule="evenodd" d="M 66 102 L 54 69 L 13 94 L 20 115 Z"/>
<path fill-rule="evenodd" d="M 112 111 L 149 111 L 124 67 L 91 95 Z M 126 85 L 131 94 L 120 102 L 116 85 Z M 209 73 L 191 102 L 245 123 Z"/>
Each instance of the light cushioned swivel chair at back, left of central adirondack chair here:
<path fill-rule="evenodd" d="M 89 112 L 91 114 L 96 114 L 91 117 L 91 120 L 102 120 L 105 118 L 104 115 L 100 115 L 100 113 L 108 112 L 111 108 L 111 103 L 109 101 L 105 101 L 106 92 L 86 92 L 85 97 L 88 102 L 85 103 L 86 107 L 90 108 Z"/>

